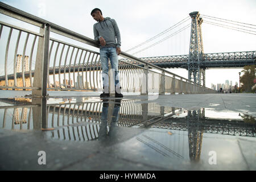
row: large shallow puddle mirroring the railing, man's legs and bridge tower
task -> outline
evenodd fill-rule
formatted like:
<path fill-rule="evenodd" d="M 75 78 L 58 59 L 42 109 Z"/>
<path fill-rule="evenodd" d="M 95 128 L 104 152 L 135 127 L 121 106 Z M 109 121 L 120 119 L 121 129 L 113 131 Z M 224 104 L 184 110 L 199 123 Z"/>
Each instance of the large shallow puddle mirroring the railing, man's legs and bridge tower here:
<path fill-rule="evenodd" d="M 1 100 L 0 104 L 1 129 L 46 130 L 40 135 L 43 140 L 97 143 L 110 146 L 114 155 L 128 158 L 132 155 L 131 159 L 148 164 L 173 163 L 175 169 L 187 167 L 180 164 L 199 162 L 212 167 L 208 164 L 212 151 L 217 152 L 217 161 L 223 169 L 234 169 L 236 165 L 230 166 L 228 160 L 243 163 L 237 140 L 242 150 L 256 142 L 255 118 L 236 111 L 185 110 L 147 103 L 144 99 L 101 100 L 97 97 L 10 99 Z M 38 117 L 40 112 L 44 117 Z M 237 166 L 246 167 L 241 165 Z"/>

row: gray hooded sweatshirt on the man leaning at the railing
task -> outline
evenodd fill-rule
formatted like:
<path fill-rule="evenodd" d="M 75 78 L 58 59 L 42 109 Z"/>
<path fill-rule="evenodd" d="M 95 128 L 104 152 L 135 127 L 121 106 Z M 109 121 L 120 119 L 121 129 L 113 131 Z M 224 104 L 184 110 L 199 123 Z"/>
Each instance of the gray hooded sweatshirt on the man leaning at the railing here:
<path fill-rule="evenodd" d="M 94 40 L 100 41 L 101 36 L 105 39 L 106 45 L 100 46 L 100 48 L 121 46 L 121 35 L 114 19 L 106 17 L 102 22 L 95 23 L 93 25 L 93 33 Z"/>

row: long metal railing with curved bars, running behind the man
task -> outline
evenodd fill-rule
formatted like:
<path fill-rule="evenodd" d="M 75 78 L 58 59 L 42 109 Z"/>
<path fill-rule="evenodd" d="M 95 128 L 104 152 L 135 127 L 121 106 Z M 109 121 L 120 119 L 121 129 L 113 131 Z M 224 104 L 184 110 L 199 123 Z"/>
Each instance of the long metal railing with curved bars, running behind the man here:
<path fill-rule="evenodd" d="M 99 53 L 77 46 L 85 44 L 98 48 L 96 41 L 2 2 L 0 13 L 39 28 L 36 32 L 0 21 L 0 42 L 6 41 L 0 89 L 32 89 L 35 97 L 47 96 L 47 90 L 102 89 Z M 61 40 L 53 38 L 51 33 L 59 35 Z M 20 40 L 23 40 L 23 46 Z M 66 40 L 76 43 L 67 43 Z M 12 43 L 15 44 L 13 54 L 10 53 Z M 138 57 L 125 52 L 120 56 L 127 59 L 119 60 L 122 91 L 141 94 L 216 93 Z M 113 79 L 110 79 L 110 94 L 114 94 L 113 85 Z"/>

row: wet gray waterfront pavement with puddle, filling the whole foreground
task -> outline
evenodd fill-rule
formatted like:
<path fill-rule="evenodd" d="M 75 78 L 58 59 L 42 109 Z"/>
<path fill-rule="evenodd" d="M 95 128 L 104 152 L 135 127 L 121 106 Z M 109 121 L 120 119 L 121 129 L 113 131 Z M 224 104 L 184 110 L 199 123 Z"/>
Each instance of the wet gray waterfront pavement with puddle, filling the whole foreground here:
<path fill-rule="evenodd" d="M 1 170 L 256 169 L 256 94 L 1 93 Z"/>

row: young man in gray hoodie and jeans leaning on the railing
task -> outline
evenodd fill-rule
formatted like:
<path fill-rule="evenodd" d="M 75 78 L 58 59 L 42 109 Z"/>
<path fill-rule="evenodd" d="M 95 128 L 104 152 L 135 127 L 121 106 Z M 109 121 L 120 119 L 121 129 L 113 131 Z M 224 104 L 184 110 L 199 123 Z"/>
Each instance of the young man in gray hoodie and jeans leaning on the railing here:
<path fill-rule="evenodd" d="M 98 23 L 93 25 L 94 40 L 100 42 L 100 56 L 102 67 L 102 81 L 104 92 L 100 97 L 109 97 L 108 61 L 115 72 L 115 97 L 123 97 L 119 83 L 118 55 L 121 53 L 121 35 L 117 22 L 109 17 L 104 18 L 100 9 L 93 9 L 93 19 Z"/>

